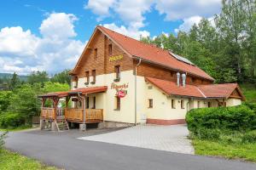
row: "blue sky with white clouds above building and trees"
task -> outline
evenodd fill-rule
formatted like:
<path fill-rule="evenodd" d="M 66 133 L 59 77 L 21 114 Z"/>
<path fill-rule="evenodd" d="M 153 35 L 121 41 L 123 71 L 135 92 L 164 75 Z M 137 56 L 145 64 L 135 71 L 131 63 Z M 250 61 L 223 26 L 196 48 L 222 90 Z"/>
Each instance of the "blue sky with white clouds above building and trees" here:
<path fill-rule="evenodd" d="M 221 0 L 2 0 L 0 72 L 73 69 L 97 25 L 139 39 L 189 31 Z"/>

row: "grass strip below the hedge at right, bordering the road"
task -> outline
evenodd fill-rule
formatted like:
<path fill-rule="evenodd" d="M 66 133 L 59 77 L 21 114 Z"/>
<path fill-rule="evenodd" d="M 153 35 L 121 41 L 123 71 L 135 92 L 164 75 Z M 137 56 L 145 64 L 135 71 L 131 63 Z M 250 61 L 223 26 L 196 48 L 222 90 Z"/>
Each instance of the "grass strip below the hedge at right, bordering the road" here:
<path fill-rule="evenodd" d="M 256 162 L 256 144 L 225 144 L 219 141 L 193 139 L 195 154 L 202 156 L 224 156 Z"/>

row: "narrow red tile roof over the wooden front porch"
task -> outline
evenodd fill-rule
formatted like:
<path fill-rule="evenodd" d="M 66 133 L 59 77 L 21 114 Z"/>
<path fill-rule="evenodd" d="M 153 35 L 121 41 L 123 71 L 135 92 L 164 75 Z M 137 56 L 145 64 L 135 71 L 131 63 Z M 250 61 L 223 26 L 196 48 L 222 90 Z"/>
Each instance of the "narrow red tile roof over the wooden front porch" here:
<path fill-rule="evenodd" d="M 69 90 L 67 92 L 53 92 L 48 94 L 41 94 L 38 95 L 39 98 L 47 98 L 47 97 L 65 97 L 73 93 L 82 93 L 82 94 L 95 94 L 100 92 L 106 92 L 108 89 L 108 86 L 99 86 L 99 87 L 90 87 L 90 88 L 77 88 L 73 90 Z"/>

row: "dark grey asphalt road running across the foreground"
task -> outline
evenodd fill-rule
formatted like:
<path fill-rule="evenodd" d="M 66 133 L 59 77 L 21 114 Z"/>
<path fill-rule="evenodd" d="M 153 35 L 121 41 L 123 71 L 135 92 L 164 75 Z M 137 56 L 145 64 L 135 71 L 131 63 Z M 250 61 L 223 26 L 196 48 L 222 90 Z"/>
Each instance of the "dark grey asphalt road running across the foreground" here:
<path fill-rule="evenodd" d="M 103 132 L 102 132 L 103 133 Z M 94 134 L 94 132 L 86 135 Z M 76 139 L 70 131 L 9 133 L 6 147 L 45 164 L 73 170 L 255 170 L 256 164 Z"/>

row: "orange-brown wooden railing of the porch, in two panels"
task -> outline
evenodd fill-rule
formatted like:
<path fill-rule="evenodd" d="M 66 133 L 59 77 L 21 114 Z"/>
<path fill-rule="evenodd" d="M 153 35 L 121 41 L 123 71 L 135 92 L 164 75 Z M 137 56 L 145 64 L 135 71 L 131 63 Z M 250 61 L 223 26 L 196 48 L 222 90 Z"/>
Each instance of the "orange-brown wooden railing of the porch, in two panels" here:
<path fill-rule="evenodd" d="M 66 109 L 65 117 L 69 122 L 83 122 L 84 110 L 83 109 Z M 86 109 L 85 122 L 102 122 L 103 110 L 102 109 Z"/>

